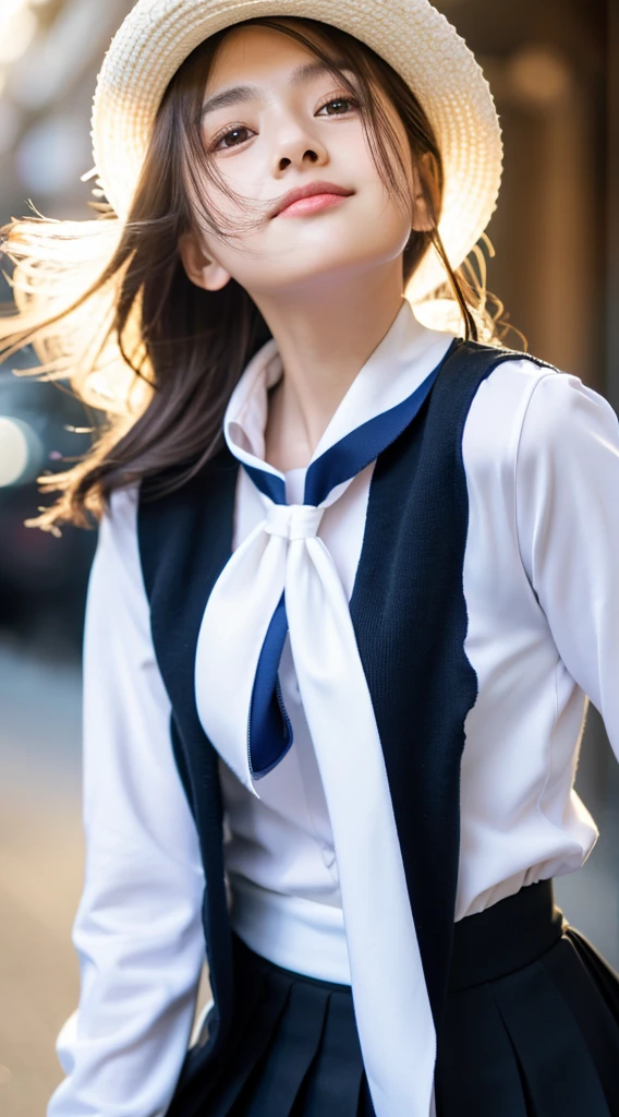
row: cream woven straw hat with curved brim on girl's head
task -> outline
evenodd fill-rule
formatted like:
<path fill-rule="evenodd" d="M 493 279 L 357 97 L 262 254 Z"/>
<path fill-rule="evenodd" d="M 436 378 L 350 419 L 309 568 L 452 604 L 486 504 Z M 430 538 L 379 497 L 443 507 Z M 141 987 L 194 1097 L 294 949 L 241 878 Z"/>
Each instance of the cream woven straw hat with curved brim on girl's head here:
<path fill-rule="evenodd" d="M 129 211 L 158 105 L 178 66 L 209 36 L 260 16 L 304 17 L 348 31 L 410 86 L 444 163 L 439 232 L 452 266 L 462 264 L 496 206 L 501 127 L 474 55 L 428 0 L 138 0 L 112 40 L 93 104 L 96 173 L 118 217 Z M 444 279 L 431 250 L 407 295 L 415 303 Z"/>

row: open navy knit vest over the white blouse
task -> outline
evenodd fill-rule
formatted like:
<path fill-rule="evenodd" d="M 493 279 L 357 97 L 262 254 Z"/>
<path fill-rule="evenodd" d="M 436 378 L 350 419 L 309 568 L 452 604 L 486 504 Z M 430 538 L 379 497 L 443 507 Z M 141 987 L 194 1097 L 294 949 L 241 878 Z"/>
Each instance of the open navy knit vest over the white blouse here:
<path fill-rule="evenodd" d="M 464 720 L 477 696 L 463 648 L 468 503 L 462 437 L 480 383 L 501 362 L 524 355 L 460 340 L 451 346 L 420 411 L 377 458 L 350 600 L 437 1029 L 454 924 Z M 190 1101 L 183 1113 L 192 1111 L 191 1082 L 226 1039 L 233 1000 L 217 754 L 199 719 L 194 665 L 209 595 L 232 553 L 238 470 L 225 448 L 165 497 L 149 499 L 143 483 L 138 507 L 154 648 L 172 703 L 171 743 L 206 879 L 214 1009 L 185 1060 L 175 1096 Z"/>

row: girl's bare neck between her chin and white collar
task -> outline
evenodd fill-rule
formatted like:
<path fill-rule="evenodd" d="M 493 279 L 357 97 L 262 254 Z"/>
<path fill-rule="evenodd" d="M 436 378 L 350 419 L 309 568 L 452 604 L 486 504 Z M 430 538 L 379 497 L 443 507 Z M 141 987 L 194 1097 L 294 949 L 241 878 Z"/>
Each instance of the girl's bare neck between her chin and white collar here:
<path fill-rule="evenodd" d="M 316 288 L 277 300 L 255 299 L 283 365 L 282 379 L 269 393 L 264 431 L 264 459 L 275 469 L 308 465 L 350 384 L 391 326 L 403 302 L 402 264 L 394 262 L 352 281 L 322 279 Z"/>

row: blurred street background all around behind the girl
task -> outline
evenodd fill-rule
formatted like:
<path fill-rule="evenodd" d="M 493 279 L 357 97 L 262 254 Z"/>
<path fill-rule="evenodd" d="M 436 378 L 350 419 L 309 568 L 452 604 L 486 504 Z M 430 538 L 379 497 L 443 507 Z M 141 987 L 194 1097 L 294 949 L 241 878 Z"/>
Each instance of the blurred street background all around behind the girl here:
<path fill-rule="evenodd" d="M 489 287 L 538 356 L 619 409 L 619 4 L 441 0 L 494 90 L 505 174 Z M 127 0 L 0 0 L 0 225 L 91 217 L 90 102 Z M 0 298 L 10 298 L 0 277 Z M 520 347 L 512 335 L 509 343 Z M 83 454 L 66 385 L 0 365 L 0 1113 L 38 1117 L 78 993 L 80 652 L 96 533 L 27 528 L 36 476 Z M 601 837 L 559 901 L 619 966 L 619 768 L 591 708 L 578 787 Z"/>

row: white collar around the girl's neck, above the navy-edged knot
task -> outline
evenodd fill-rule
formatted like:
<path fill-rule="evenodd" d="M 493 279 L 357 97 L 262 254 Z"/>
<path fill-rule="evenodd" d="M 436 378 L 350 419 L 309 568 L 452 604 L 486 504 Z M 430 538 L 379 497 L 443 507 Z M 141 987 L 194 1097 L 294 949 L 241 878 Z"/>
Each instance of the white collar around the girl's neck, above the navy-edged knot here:
<path fill-rule="evenodd" d="M 454 334 L 423 326 L 405 299 L 332 414 L 311 461 L 368 419 L 402 403 L 434 371 L 453 340 Z M 264 461 L 264 429 L 267 393 L 282 372 L 277 343 L 271 338 L 241 374 L 223 421 L 225 441 L 234 457 L 278 477 L 286 475 Z"/>

